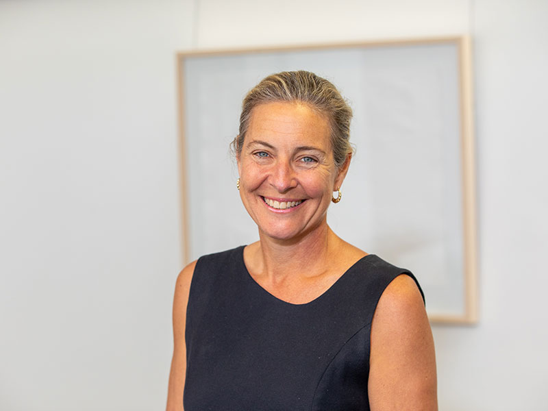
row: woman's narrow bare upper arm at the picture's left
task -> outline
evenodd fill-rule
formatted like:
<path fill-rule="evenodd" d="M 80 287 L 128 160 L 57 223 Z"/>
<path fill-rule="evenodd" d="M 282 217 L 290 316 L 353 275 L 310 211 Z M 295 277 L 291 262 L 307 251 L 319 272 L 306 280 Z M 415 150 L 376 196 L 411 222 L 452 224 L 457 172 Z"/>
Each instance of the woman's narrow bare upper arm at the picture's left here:
<path fill-rule="evenodd" d="M 190 282 L 196 261 L 186 266 L 175 283 L 175 296 L 173 297 L 173 358 L 171 359 L 171 371 L 169 373 L 169 387 L 167 395 L 166 411 L 183 410 L 183 390 L 186 374 L 186 306 L 190 292 Z"/>

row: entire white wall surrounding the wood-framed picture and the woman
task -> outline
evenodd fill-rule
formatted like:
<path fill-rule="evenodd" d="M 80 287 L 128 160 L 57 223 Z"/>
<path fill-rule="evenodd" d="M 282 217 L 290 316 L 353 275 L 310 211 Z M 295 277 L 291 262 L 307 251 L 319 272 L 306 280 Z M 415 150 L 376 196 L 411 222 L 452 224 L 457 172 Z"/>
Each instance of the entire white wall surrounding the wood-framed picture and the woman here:
<path fill-rule="evenodd" d="M 175 50 L 467 32 L 480 321 L 434 327 L 440 410 L 545 409 L 547 18 L 541 0 L 1 1 L 0 409 L 164 404 Z"/>

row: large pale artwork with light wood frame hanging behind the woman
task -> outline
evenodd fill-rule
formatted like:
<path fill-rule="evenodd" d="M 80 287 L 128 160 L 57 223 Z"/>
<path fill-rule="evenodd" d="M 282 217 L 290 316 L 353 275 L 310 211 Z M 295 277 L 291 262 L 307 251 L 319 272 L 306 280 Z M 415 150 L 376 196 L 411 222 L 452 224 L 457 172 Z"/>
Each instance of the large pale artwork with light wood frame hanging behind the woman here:
<path fill-rule="evenodd" d="M 229 143 L 247 91 L 307 70 L 353 109 L 356 153 L 329 226 L 410 269 L 433 322 L 477 321 L 471 52 L 465 37 L 177 54 L 184 258 L 245 245 Z"/>

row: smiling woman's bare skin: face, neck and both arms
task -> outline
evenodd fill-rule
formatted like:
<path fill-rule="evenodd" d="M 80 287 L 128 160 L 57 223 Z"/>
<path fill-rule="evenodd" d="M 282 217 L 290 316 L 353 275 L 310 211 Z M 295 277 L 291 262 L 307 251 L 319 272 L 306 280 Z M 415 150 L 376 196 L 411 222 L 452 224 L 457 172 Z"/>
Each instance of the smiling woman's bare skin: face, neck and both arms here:
<path fill-rule="evenodd" d="M 321 114 L 299 103 L 258 105 L 237 161 L 240 197 L 260 236 L 245 247 L 244 261 L 272 295 L 295 304 L 312 301 L 366 256 L 327 225 L 327 208 L 343 184 L 350 155 L 337 169 L 329 123 Z M 277 210 L 265 198 L 302 202 Z M 184 321 L 195 264 L 185 267 L 175 287 L 167 410 L 183 409 Z M 368 390 L 373 411 L 437 410 L 432 332 L 420 292 L 407 275 L 388 285 L 375 310 Z"/>

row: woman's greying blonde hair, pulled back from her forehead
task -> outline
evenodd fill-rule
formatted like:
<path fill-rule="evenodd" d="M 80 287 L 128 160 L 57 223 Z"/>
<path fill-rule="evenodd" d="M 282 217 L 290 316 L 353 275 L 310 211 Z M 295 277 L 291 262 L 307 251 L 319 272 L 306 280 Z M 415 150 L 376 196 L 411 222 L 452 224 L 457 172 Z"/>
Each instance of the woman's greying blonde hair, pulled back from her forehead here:
<path fill-rule="evenodd" d="M 269 75 L 247 93 L 240 114 L 240 132 L 232 142 L 237 157 L 240 156 L 253 109 L 274 102 L 301 103 L 325 116 L 329 122 L 335 166 L 340 169 L 345 164 L 352 153 L 349 142 L 352 110 L 331 82 L 309 71 L 282 71 Z"/>

